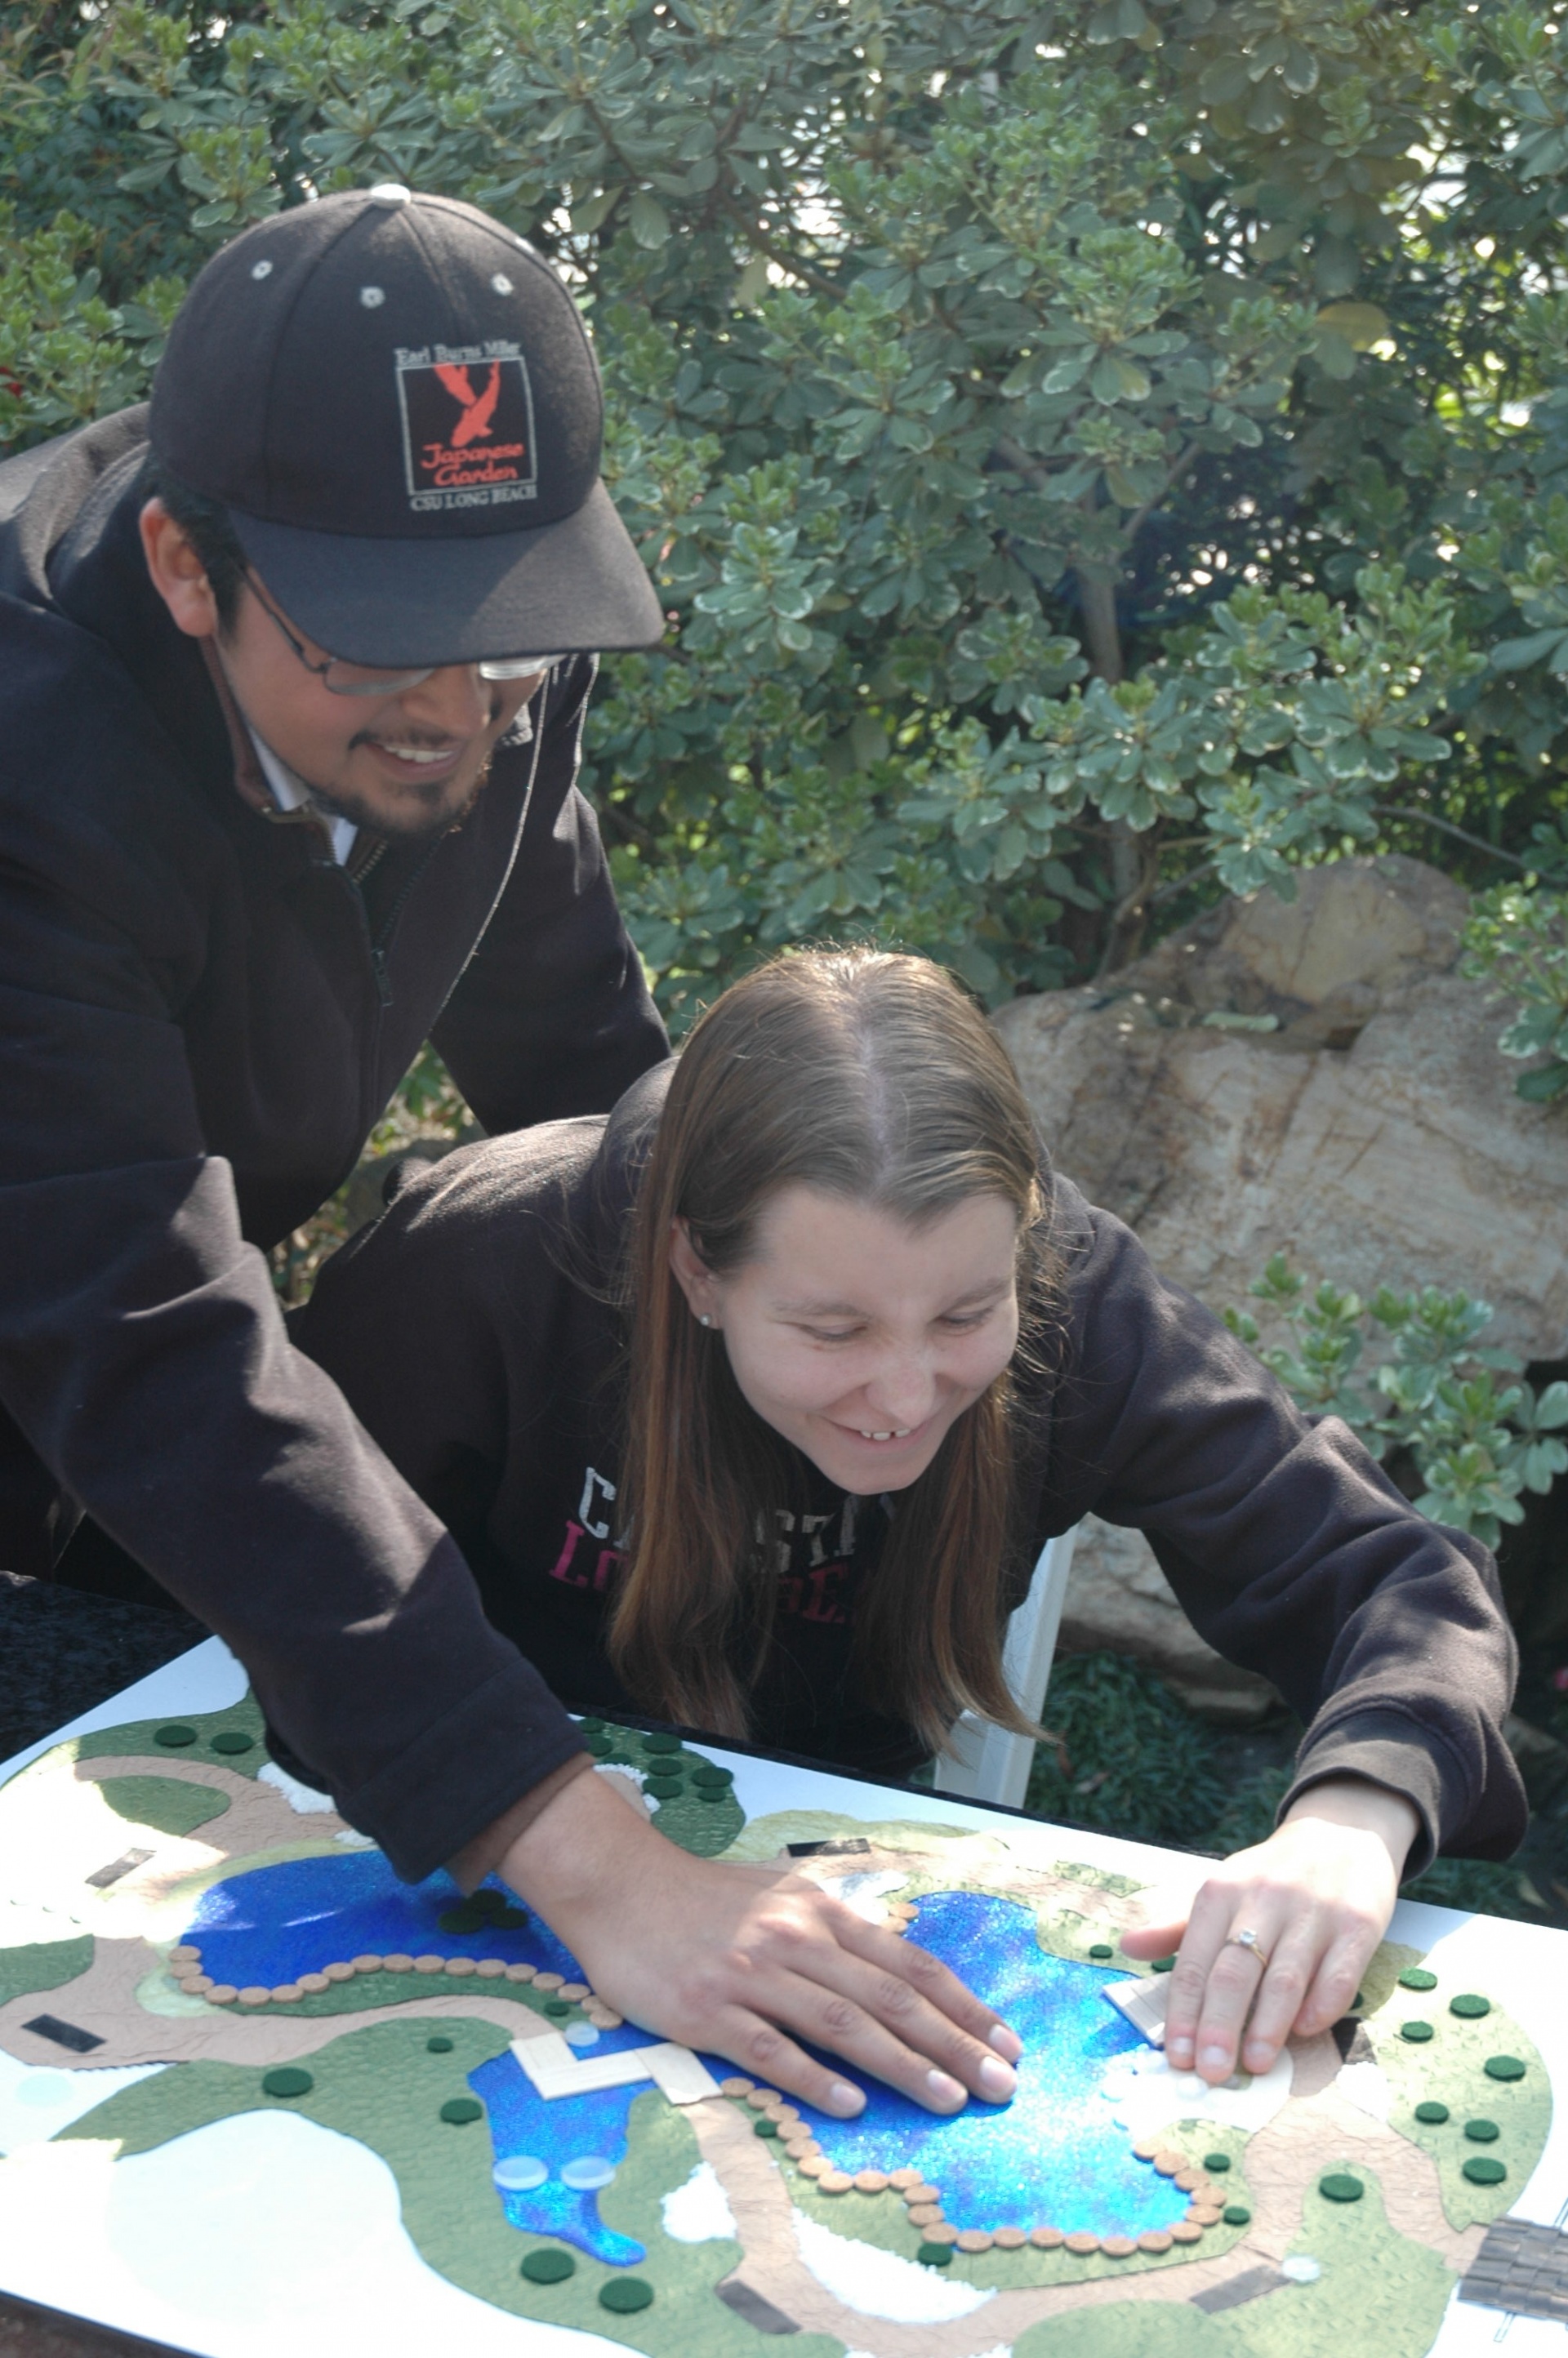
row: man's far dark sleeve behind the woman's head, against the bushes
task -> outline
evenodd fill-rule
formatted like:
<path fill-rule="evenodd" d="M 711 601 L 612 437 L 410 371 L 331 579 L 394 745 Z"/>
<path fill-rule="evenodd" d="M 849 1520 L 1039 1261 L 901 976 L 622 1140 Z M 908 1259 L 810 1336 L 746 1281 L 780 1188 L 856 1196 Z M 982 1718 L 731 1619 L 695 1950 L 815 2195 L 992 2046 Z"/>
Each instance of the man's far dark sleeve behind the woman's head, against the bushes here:
<path fill-rule="evenodd" d="M 535 700 L 542 743 L 512 875 L 431 1035 L 490 1134 L 608 1113 L 670 1054 L 575 785 L 592 684 L 594 658 L 573 656 Z"/>

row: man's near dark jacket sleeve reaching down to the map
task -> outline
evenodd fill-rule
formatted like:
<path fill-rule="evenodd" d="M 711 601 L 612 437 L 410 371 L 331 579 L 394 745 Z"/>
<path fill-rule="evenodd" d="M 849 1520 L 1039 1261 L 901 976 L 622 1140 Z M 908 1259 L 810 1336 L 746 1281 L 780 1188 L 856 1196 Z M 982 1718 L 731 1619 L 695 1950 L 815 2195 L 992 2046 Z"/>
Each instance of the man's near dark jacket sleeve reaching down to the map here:
<path fill-rule="evenodd" d="M 71 752 L 68 707 L 59 733 Z M 127 731 L 134 714 L 127 710 Z M 87 747 L 92 750 L 92 747 Z M 127 792 L 158 745 L 125 738 Z M 245 1662 L 290 1752 L 401 1875 L 580 1747 L 469 1570 L 302 1358 L 184 1038 L 203 908 L 50 780 L 0 861 L 0 1398 L 52 1474 Z M 174 830 L 177 837 L 179 830 Z"/>

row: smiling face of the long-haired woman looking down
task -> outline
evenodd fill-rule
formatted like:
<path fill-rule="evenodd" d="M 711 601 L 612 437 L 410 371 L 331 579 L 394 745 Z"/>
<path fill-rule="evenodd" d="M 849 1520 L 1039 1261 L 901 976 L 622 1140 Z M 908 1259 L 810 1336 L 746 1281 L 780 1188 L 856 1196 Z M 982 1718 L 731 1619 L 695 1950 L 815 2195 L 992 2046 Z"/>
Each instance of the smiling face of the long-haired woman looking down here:
<path fill-rule="evenodd" d="M 769 1198 L 757 1252 L 714 1276 L 670 1238 L 757 1415 L 844 1490 L 903 1490 L 1019 1342 L 1019 1214 L 969 1196 L 922 1229 L 809 1186 Z"/>

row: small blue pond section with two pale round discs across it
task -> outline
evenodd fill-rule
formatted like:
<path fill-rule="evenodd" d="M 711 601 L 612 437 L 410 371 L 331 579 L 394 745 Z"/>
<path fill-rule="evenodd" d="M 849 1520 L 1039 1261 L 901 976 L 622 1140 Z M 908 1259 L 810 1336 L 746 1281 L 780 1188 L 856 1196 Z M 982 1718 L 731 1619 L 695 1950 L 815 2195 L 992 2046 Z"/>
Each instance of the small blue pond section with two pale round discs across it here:
<path fill-rule="evenodd" d="M 606 2030 L 589 2054 L 613 2054 L 615 2047 L 646 2047 L 648 2033 Z M 505 2193 L 495 2188 L 495 2200 L 516 2228 L 531 2235 L 559 2235 L 575 2242 L 589 2259 L 601 2259 L 611 2268 L 630 2268 L 646 2259 L 639 2242 L 618 2235 L 599 2217 L 599 2191 L 568 2186 L 561 2169 L 580 2158 L 599 2158 L 620 2167 L 627 2153 L 627 2113 L 632 2099 L 653 2082 L 639 2080 L 634 2087 L 599 2087 L 587 2096 L 540 2096 L 512 2049 L 493 2056 L 469 2073 L 469 2087 L 483 2099 L 490 2122 L 490 2146 L 495 2160 L 526 2153 L 549 2165 L 549 2179 L 528 2193 Z"/>

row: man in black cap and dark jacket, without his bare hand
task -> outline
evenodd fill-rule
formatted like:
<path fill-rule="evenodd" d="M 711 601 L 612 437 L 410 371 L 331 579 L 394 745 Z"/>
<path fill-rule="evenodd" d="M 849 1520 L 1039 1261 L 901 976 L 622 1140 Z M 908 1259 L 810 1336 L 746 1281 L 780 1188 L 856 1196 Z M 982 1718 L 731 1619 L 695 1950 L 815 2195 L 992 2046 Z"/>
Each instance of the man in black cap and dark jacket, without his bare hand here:
<path fill-rule="evenodd" d="M 663 627 L 599 432 L 545 262 L 370 189 L 0 469 L 0 1563 L 144 1566 L 410 1877 L 580 1745 L 262 1254 L 427 1035 L 488 1129 L 665 1054 L 573 785 Z"/>

